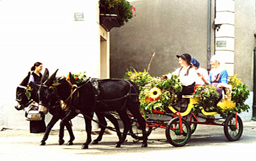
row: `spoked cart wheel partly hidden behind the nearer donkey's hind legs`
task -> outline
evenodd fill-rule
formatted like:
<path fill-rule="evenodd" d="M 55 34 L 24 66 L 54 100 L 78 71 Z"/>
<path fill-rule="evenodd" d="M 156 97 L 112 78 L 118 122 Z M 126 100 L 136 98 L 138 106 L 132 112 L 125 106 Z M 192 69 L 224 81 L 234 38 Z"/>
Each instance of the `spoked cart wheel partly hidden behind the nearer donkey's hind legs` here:
<path fill-rule="evenodd" d="M 150 135 L 151 131 L 152 131 L 152 127 L 146 126 L 147 137 Z M 138 139 L 138 140 L 143 139 L 143 134 L 142 134 L 142 130 L 140 129 L 140 124 L 135 120 L 132 121 L 132 127 L 130 129 L 130 132 L 131 132 L 131 136 L 134 139 Z"/>

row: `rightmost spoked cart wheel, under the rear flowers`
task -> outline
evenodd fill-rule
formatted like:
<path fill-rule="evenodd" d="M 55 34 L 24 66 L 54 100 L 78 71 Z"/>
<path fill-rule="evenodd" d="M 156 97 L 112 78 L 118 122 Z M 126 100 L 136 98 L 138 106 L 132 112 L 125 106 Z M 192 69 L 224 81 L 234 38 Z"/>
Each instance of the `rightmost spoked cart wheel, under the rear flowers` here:
<path fill-rule="evenodd" d="M 229 141 L 239 140 L 243 134 L 243 122 L 241 118 L 237 115 L 236 123 L 236 115 L 228 115 L 224 123 L 224 132 Z"/>

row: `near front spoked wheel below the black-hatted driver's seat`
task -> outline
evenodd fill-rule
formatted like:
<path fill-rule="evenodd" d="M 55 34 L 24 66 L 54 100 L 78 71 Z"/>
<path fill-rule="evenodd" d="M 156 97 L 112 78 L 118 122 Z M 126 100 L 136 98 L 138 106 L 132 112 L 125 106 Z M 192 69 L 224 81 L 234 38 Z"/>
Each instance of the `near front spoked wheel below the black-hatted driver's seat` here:
<path fill-rule="evenodd" d="M 165 130 L 167 141 L 173 146 L 184 146 L 191 137 L 191 129 L 189 123 L 182 118 L 182 132 L 180 128 L 180 119 L 173 118 L 166 126 Z"/>

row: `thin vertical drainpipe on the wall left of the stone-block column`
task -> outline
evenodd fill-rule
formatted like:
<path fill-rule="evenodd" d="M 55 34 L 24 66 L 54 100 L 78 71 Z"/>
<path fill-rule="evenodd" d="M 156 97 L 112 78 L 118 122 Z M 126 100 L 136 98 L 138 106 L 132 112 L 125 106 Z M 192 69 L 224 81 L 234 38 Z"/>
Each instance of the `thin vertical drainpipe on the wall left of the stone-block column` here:
<path fill-rule="evenodd" d="M 208 0 L 208 22 L 207 22 L 207 70 L 211 69 L 211 10 L 212 1 Z"/>

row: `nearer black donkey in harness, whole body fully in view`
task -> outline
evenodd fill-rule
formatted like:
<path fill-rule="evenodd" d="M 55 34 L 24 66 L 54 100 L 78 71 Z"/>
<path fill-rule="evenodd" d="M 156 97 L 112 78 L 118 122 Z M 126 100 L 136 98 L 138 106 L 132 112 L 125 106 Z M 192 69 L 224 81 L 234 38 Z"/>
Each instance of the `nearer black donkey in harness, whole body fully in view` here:
<path fill-rule="evenodd" d="M 58 70 L 57 70 L 58 71 Z M 57 72 L 56 71 L 56 72 Z M 53 92 L 49 90 L 55 79 L 56 72 L 47 80 L 40 92 L 39 104 L 48 104 L 51 101 Z M 75 82 L 71 73 L 70 80 L 67 78 L 58 78 L 56 85 L 56 94 L 64 102 L 69 101 L 72 110 L 68 113 L 61 123 L 67 122 L 72 117 L 72 111 L 79 111 L 84 115 L 86 123 L 87 139 L 82 148 L 88 148 L 88 144 L 92 141 L 92 117 L 93 112 L 116 111 L 122 122 L 124 123 L 124 133 L 122 138 L 116 143 L 116 147 L 120 147 L 124 143 L 127 132 L 131 128 L 131 120 L 127 115 L 127 109 L 132 113 L 134 118 L 140 123 L 140 129 L 143 130 L 142 147 L 147 147 L 147 132 L 145 131 L 145 119 L 141 116 L 139 110 L 138 94 L 139 88 L 135 83 L 129 80 L 88 80 L 80 83 L 78 87 L 72 86 Z M 71 98 L 72 97 L 72 101 Z"/>

